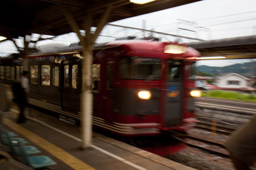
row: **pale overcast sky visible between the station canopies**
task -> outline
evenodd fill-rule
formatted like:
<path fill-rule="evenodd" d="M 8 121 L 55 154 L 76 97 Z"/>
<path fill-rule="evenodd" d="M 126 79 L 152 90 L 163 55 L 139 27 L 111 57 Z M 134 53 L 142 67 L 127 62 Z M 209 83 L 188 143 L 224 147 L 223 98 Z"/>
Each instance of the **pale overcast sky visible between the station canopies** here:
<path fill-rule="evenodd" d="M 175 8 L 165 9 L 138 17 L 115 21 L 111 24 L 129 27 L 145 28 L 163 33 L 178 34 L 202 40 L 224 39 L 256 35 L 256 1 L 255 0 L 204 0 L 186 4 Z M 144 23 L 144 24 L 143 24 Z M 185 31 L 191 30 L 191 31 Z M 113 41 L 114 37 L 136 36 L 142 37 L 150 33 L 120 27 L 105 26 L 96 43 Z M 35 40 L 38 34 L 32 34 Z M 176 41 L 188 43 L 191 40 L 177 39 L 177 37 L 162 36 L 161 41 Z M 45 36 L 50 37 L 50 36 Z M 49 43 L 63 43 L 69 45 L 79 41 L 75 33 L 58 36 L 54 40 L 39 41 L 36 46 Z M 17 40 L 18 46 L 23 46 L 22 39 Z M 33 44 L 32 44 L 33 45 Z M 15 53 L 17 49 L 11 41 L 0 43 L 0 56 Z M 207 60 L 199 61 L 198 65 L 227 66 L 233 63 L 249 62 L 249 60 Z"/>

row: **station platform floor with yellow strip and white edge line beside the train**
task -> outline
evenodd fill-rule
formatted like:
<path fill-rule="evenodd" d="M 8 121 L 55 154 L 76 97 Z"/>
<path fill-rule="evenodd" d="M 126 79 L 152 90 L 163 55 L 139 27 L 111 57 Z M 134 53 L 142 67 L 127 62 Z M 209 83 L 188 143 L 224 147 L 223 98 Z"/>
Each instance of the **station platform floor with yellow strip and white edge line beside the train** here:
<path fill-rule="evenodd" d="M 17 107 L 1 113 L 1 124 L 5 130 L 13 131 L 26 139 L 26 145 L 35 146 L 41 153 L 57 162 L 51 169 L 171 169 L 193 170 L 126 143 L 119 142 L 93 132 L 92 146 L 81 150 L 79 127 L 58 120 L 40 111 L 29 108 L 26 123 L 17 124 Z M 7 146 L 0 146 L 0 155 L 8 155 Z M 33 156 L 35 156 L 33 155 Z M 10 156 L 10 155 L 9 155 Z M 31 169 L 10 156 L 13 169 Z M 1 166 L 0 166 L 1 167 Z"/>

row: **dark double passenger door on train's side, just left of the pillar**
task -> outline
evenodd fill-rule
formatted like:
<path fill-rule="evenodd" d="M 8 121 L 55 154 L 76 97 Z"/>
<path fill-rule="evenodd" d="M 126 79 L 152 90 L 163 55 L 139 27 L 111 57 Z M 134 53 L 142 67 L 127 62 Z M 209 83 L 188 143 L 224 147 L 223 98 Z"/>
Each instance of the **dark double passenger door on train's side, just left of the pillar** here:
<path fill-rule="evenodd" d="M 62 65 L 62 106 L 63 110 L 80 110 L 79 69 L 76 62 L 65 60 Z"/>

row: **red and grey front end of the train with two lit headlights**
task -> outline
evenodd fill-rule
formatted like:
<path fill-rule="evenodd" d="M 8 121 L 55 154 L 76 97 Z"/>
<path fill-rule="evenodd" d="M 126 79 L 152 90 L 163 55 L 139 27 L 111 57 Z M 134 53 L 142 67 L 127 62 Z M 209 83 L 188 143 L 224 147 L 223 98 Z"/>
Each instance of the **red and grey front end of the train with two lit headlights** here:
<path fill-rule="evenodd" d="M 130 143 L 158 155 L 181 149 L 177 136 L 195 125 L 193 97 L 200 94 L 193 78 L 199 53 L 156 41 L 135 41 L 123 49 L 114 81 L 114 125 Z"/>

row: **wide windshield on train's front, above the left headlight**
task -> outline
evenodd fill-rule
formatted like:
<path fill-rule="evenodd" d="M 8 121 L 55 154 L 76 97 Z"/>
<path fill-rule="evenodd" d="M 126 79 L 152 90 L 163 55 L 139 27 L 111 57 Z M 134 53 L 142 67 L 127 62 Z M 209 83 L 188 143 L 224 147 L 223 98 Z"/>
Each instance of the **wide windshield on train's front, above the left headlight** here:
<path fill-rule="evenodd" d="M 149 57 L 122 57 L 119 65 L 121 79 L 160 79 L 161 60 Z"/>

